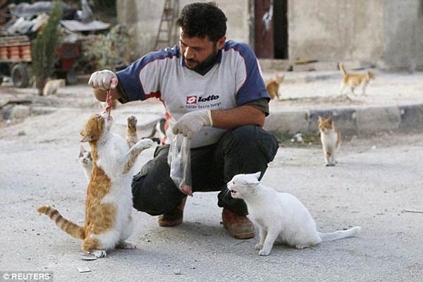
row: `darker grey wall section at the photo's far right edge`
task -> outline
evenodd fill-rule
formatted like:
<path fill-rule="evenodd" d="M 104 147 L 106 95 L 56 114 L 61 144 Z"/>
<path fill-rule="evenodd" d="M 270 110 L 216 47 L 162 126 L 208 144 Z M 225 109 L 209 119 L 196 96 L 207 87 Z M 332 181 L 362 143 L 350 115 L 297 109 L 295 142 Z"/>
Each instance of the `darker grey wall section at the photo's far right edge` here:
<path fill-rule="evenodd" d="M 384 0 L 382 68 L 423 67 L 423 1 Z"/>

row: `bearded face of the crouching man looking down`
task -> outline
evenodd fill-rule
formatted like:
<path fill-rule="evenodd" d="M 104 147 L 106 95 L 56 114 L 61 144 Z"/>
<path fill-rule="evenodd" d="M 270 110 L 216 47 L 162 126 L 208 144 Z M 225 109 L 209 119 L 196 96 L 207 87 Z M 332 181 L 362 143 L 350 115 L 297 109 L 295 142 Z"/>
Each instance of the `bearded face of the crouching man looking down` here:
<path fill-rule="evenodd" d="M 201 70 L 209 65 L 216 57 L 217 52 L 222 49 L 226 37 L 218 42 L 212 42 L 208 37 L 183 37 L 180 30 L 180 51 L 184 57 L 184 63 L 190 70 Z"/>

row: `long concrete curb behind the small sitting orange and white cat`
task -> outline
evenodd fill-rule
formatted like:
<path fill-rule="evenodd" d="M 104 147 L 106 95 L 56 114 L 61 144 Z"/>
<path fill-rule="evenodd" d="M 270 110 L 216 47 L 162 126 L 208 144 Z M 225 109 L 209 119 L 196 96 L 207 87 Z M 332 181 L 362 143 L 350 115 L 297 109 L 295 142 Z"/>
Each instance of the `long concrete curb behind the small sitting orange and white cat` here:
<path fill-rule="evenodd" d="M 317 118 L 332 116 L 344 135 L 372 135 L 423 124 L 423 104 L 271 111 L 264 129 L 274 133 L 316 133 Z"/>

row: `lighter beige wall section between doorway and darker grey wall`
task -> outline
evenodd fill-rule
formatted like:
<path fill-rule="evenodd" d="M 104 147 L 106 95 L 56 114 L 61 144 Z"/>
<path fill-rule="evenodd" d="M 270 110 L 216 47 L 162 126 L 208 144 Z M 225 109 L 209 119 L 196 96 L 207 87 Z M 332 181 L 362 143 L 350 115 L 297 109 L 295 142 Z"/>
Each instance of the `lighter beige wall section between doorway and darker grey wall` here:
<path fill-rule="evenodd" d="M 289 0 L 290 59 L 375 61 L 382 54 L 383 0 Z"/>

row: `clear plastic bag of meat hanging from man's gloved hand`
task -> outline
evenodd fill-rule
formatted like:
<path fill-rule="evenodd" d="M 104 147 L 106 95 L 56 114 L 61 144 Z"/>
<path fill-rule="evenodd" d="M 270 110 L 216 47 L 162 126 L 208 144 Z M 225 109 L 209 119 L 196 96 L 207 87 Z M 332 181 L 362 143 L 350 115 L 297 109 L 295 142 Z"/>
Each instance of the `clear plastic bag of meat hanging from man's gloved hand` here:
<path fill-rule="evenodd" d="M 191 186 L 191 141 L 183 135 L 173 138 L 168 154 L 171 179 L 180 192 L 192 196 Z"/>

